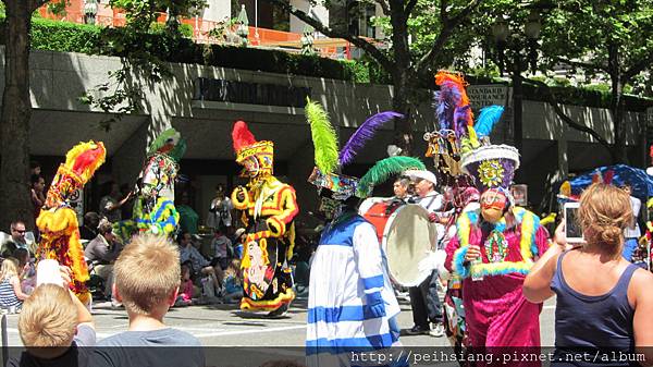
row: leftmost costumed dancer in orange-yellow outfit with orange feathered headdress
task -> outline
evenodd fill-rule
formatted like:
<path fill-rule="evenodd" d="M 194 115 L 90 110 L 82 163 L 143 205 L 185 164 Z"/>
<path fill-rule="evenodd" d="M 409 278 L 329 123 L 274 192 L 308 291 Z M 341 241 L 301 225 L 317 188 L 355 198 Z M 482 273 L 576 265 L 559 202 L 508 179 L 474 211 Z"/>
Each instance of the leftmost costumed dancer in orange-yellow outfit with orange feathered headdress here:
<path fill-rule="evenodd" d="M 72 271 L 71 290 L 84 304 L 90 304 L 86 289 L 88 269 L 84 249 L 79 243 L 77 213 L 70 206 L 73 196 L 93 178 L 102 166 L 107 151 L 100 142 L 79 143 L 65 155 L 57 175 L 48 189 L 46 203 L 36 219 L 41 233 L 37 258 L 54 259 Z"/>

